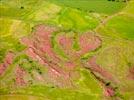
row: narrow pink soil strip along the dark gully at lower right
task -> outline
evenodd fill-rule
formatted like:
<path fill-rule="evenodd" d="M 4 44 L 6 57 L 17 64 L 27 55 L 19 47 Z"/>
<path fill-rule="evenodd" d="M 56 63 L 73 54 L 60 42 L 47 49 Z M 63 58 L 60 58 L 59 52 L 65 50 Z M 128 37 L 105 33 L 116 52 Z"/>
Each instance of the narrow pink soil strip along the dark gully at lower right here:
<path fill-rule="evenodd" d="M 86 68 L 89 68 L 93 75 L 101 82 L 102 86 L 104 87 L 104 95 L 105 96 L 114 96 L 115 95 L 115 90 L 112 86 L 106 86 L 105 79 L 112 81 L 114 83 L 117 82 L 117 80 L 113 77 L 113 75 L 106 71 L 104 68 L 99 66 L 96 63 L 96 57 L 92 57 L 87 64 L 85 65 Z M 96 76 L 95 73 L 98 73 L 100 76 Z M 98 75 L 97 74 L 97 75 Z M 103 77 L 103 78 L 102 78 Z"/>

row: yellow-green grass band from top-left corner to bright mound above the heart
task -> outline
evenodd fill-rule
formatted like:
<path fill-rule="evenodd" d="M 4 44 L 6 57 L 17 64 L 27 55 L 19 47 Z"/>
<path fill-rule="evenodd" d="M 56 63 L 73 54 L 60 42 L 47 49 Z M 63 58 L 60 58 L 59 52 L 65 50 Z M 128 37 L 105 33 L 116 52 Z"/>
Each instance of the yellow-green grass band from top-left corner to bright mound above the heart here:
<path fill-rule="evenodd" d="M 99 21 L 80 10 L 60 7 L 47 1 L 1 1 L 0 16 L 34 24 L 47 23 L 65 29 L 85 31 L 94 29 Z M 10 12 L 10 13 L 9 13 Z"/>

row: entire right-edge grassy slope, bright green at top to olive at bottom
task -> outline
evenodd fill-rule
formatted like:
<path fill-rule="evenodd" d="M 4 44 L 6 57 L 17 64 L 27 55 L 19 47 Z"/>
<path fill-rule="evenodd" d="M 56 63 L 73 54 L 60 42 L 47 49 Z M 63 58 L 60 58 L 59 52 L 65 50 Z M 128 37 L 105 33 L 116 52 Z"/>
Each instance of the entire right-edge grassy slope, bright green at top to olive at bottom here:
<path fill-rule="evenodd" d="M 133 4 L 131 1 L 121 13 L 110 18 L 97 30 L 103 41 L 97 62 L 119 80 L 117 87 L 125 100 L 134 98 L 134 81 L 127 77 L 128 69 L 134 65 Z"/>

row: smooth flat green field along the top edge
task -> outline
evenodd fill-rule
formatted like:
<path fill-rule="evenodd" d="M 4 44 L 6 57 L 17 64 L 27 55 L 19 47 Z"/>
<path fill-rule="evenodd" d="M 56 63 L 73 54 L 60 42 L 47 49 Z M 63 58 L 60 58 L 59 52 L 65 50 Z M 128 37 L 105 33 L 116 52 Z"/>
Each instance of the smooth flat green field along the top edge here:
<path fill-rule="evenodd" d="M 120 11 L 125 6 L 124 2 L 112 2 L 107 0 L 48 0 L 62 6 L 79 8 L 86 11 L 112 14 Z"/>

